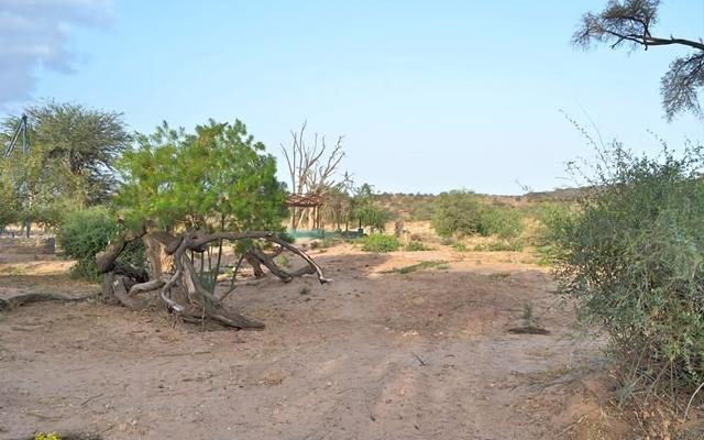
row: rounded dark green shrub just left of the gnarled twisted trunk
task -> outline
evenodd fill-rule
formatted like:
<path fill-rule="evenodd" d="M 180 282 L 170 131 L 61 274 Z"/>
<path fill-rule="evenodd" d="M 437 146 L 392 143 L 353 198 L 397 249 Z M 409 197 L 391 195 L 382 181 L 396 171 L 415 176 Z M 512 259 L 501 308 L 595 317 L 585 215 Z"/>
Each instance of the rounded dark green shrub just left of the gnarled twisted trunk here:
<path fill-rule="evenodd" d="M 96 254 L 103 251 L 118 233 L 118 224 L 108 210 L 94 207 L 66 213 L 58 227 L 56 240 L 64 254 L 77 261 L 72 270 L 73 275 L 97 279 L 99 274 Z M 135 241 L 128 244 L 118 261 L 141 266 L 144 261 L 143 243 Z"/>

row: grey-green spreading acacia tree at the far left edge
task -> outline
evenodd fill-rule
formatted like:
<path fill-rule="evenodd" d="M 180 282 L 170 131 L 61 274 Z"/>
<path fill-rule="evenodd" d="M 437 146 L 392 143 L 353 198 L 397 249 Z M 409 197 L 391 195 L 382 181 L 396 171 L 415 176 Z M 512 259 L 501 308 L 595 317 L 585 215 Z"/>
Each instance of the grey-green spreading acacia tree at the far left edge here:
<path fill-rule="evenodd" d="M 130 135 L 120 113 L 80 105 L 50 102 L 24 109 L 30 148 L 0 157 L 3 206 L 14 207 L 12 221 L 54 226 L 67 207 L 109 199 L 116 188 L 112 165 Z M 0 121 L 0 145 L 14 135 L 20 117 Z M 8 199 L 8 200 L 6 200 Z M 7 204 L 7 205 L 6 205 Z"/>

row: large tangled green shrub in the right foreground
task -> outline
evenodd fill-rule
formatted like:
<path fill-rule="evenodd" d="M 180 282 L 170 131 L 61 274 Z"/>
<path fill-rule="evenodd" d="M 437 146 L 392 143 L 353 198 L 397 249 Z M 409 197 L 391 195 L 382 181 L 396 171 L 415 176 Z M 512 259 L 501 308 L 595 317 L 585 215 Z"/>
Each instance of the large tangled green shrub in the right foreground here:
<path fill-rule="evenodd" d="M 691 393 L 704 380 L 704 154 L 614 144 L 603 157 L 580 213 L 552 226 L 561 292 L 605 327 L 625 385 Z"/>

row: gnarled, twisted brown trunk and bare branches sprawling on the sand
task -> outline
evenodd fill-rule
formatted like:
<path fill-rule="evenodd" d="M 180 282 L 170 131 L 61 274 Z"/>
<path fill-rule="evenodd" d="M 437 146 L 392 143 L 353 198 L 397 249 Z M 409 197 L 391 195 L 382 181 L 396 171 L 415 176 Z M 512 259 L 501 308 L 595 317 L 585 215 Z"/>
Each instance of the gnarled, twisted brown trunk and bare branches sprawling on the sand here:
<path fill-rule="evenodd" d="M 120 264 L 117 258 L 128 243 L 143 240 L 146 245 L 148 272 L 144 268 Z M 222 305 L 226 295 L 218 297 L 206 289 L 189 257 L 190 252 L 202 253 L 209 243 L 239 240 L 263 240 L 285 249 L 306 262 L 306 266 L 296 272 L 280 268 L 273 256 L 253 248 L 243 257 L 266 267 L 284 282 L 290 282 L 306 274 L 314 274 L 321 284 L 330 282 L 322 268 L 304 251 L 278 239 L 273 232 L 217 232 L 188 231 L 178 237 L 163 231 L 127 233 L 111 243 L 97 255 L 100 273 L 105 274 L 102 296 L 107 302 L 121 304 L 130 309 L 140 310 L 147 306 L 141 295 L 155 294 L 167 309 L 185 321 L 210 319 L 237 329 L 260 329 L 264 324 L 246 318 Z M 190 251 L 190 252 L 189 252 Z"/>

